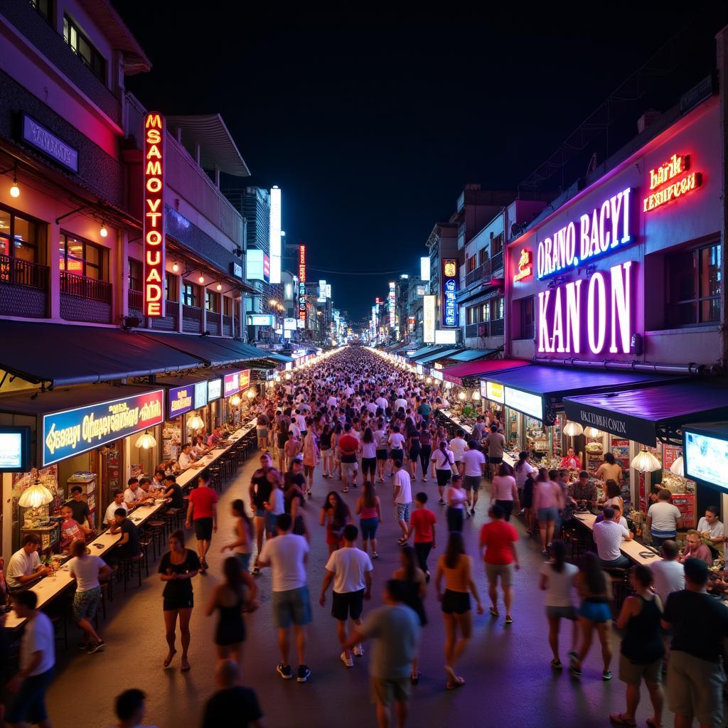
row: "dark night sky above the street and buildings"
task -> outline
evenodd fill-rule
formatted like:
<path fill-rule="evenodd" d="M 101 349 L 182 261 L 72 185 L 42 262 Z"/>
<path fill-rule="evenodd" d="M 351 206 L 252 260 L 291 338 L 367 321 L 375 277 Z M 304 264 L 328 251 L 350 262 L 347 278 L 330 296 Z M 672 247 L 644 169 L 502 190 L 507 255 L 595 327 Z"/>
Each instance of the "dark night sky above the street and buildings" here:
<path fill-rule="evenodd" d="M 392 272 L 419 270 L 464 183 L 515 189 L 690 20 L 638 3 L 598 6 L 598 24 L 597 6 L 578 6 L 573 27 L 553 5 L 487 22 L 339 24 L 234 15 L 232 4 L 207 15 L 199 3 L 116 5 L 154 66 L 130 90 L 167 114 L 223 116 L 247 183 L 282 188 L 286 240 L 308 244 L 310 266 L 341 272 L 309 278 L 332 282 L 352 317 L 368 314 Z M 714 10 L 693 20 L 708 63 L 721 20 Z M 676 51 L 696 55 L 694 44 Z"/>

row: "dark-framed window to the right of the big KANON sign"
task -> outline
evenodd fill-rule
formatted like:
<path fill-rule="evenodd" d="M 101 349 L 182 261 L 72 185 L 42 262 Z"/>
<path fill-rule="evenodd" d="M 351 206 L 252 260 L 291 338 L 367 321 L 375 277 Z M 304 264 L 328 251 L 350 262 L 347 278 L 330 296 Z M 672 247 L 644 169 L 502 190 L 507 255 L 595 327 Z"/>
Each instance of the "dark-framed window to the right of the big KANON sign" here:
<path fill-rule="evenodd" d="M 721 245 L 668 257 L 668 326 L 714 323 L 721 314 Z"/>

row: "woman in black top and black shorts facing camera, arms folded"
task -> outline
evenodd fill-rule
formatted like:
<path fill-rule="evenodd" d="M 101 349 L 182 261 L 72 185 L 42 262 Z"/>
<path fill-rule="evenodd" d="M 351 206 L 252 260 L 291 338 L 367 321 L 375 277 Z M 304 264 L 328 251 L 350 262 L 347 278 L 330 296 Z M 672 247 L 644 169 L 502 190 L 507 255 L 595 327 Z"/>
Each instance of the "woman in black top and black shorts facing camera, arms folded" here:
<path fill-rule="evenodd" d="M 167 645 L 170 647 L 170 651 L 162 664 L 165 668 L 168 668 L 173 657 L 177 654 L 175 630 L 177 617 L 179 616 L 183 673 L 189 670 L 189 661 L 187 660 L 190 638 L 189 619 L 194 606 L 191 579 L 197 576 L 198 571 L 199 557 L 194 551 L 185 548 L 183 532 L 174 531 L 170 536 L 170 550 L 162 555 L 162 559 L 159 561 L 160 578 L 163 582 L 166 582 L 165 590 L 162 592 L 164 597 L 162 609 L 165 614 Z"/>

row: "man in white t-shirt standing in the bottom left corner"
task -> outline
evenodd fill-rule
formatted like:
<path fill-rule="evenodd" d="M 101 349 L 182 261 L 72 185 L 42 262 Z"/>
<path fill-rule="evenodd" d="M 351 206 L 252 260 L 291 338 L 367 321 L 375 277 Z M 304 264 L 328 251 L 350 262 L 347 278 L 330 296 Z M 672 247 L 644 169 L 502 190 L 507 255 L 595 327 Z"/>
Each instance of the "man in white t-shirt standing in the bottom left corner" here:
<path fill-rule="evenodd" d="M 36 609 L 35 592 L 15 592 L 11 599 L 17 618 L 25 620 L 25 631 L 20 640 L 20 670 L 7 684 L 9 692 L 17 695 L 5 719 L 9 725 L 37 723 L 41 728 L 50 728 L 45 692 L 55 665 L 55 630 L 47 615 Z"/>

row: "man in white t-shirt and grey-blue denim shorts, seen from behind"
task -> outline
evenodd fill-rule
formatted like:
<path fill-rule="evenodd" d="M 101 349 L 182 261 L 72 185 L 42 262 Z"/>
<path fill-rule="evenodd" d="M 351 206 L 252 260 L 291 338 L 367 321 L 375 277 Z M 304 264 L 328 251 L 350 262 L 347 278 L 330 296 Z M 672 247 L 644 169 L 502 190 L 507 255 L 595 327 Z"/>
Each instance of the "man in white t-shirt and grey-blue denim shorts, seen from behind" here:
<path fill-rule="evenodd" d="M 290 514 L 282 513 L 276 521 L 277 536 L 267 539 L 260 556 L 258 567 L 270 566 L 273 571 L 273 618 L 278 629 L 278 646 L 281 662 L 277 673 L 284 679 L 293 678 L 288 661 L 290 625 L 296 633 L 298 650 L 298 682 L 306 682 L 311 675 L 306 665 L 306 625 L 311 622 L 311 602 L 306 582 L 306 558 L 309 543 L 303 536 L 292 534 L 293 521 Z"/>

